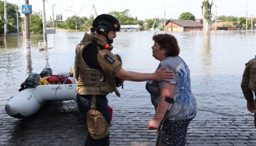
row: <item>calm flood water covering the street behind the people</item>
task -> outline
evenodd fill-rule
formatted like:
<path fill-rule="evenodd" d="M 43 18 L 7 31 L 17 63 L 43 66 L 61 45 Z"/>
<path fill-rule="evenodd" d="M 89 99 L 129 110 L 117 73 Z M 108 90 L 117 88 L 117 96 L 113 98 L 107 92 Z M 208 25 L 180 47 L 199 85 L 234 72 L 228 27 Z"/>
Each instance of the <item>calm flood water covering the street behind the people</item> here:
<path fill-rule="evenodd" d="M 117 32 L 114 54 L 123 60 L 128 71 L 152 73 L 159 61 L 152 57 L 153 31 Z M 186 32 L 171 33 L 178 39 L 180 56 L 191 72 L 191 90 L 197 99 L 199 111 L 225 116 L 252 115 L 247 111 L 241 91 L 241 79 L 245 63 L 256 55 L 256 33 L 229 31 L 229 34 L 189 35 Z M 7 45 L 0 37 L 0 103 L 17 94 L 20 85 L 30 73 L 40 73 L 51 67 L 53 74 L 69 72 L 74 67 L 75 48 L 84 32 L 57 32 L 47 34 L 48 48 L 39 51 L 37 39 L 31 36 L 31 49 L 25 49 L 24 36 L 8 36 Z M 119 88 L 121 97 L 108 95 L 109 105 L 152 107 L 145 82 L 124 82 Z M 2 104 L 4 105 L 4 104 Z"/>

